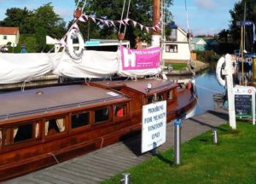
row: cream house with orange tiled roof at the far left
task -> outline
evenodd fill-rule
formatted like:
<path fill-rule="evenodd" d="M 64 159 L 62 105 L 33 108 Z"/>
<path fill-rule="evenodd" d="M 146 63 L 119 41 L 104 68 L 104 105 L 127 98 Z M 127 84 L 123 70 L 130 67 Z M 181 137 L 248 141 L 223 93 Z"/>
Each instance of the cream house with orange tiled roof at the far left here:
<path fill-rule="evenodd" d="M 19 38 L 19 27 L 0 27 L 0 46 L 7 43 L 15 46 L 19 43 Z"/>

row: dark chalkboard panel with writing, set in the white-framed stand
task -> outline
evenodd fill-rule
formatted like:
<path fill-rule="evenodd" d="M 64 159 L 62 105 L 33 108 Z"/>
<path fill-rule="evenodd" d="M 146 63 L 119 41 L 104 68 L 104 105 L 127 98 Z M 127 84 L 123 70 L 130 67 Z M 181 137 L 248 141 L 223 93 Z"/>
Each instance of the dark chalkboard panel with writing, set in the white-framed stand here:
<path fill-rule="evenodd" d="M 252 95 L 235 95 L 236 117 L 253 117 L 253 96 Z"/>

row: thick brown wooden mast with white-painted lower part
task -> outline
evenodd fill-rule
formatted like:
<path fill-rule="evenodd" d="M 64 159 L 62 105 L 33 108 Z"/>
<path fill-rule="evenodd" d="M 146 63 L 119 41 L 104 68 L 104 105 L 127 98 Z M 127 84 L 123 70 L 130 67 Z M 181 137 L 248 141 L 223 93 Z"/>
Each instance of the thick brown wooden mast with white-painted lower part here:
<path fill-rule="evenodd" d="M 160 21 L 160 0 L 153 0 L 153 26 Z M 153 32 L 152 46 L 160 46 L 160 31 Z"/>

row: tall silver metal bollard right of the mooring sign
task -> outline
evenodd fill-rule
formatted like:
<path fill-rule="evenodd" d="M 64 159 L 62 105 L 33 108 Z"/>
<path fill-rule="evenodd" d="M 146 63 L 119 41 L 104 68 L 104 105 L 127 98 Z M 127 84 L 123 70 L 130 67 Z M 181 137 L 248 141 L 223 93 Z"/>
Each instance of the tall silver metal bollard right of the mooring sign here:
<path fill-rule="evenodd" d="M 181 164 L 181 121 L 174 122 L 174 164 Z"/>

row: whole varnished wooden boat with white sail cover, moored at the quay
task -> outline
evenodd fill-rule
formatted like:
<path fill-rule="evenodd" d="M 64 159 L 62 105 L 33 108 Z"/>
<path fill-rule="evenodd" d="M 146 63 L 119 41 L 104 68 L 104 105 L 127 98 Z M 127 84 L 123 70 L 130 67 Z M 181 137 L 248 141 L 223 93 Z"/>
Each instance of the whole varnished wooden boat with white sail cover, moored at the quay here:
<path fill-rule="evenodd" d="M 74 49 L 74 37 L 80 40 L 79 49 Z M 83 50 L 81 39 L 73 27 L 67 34 L 68 52 L 0 55 L 0 83 L 27 82 L 49 72 L 72 78 L 117 73 L 133 80 L 0 94 L 0 181 L 106 147 L 141 130 L 142 108 L 149 103 L 166 101 L 167 122 L 195 106 L 193 83 L 155 77 L 161 72 L 159 47 L 102 52 Z"/>

